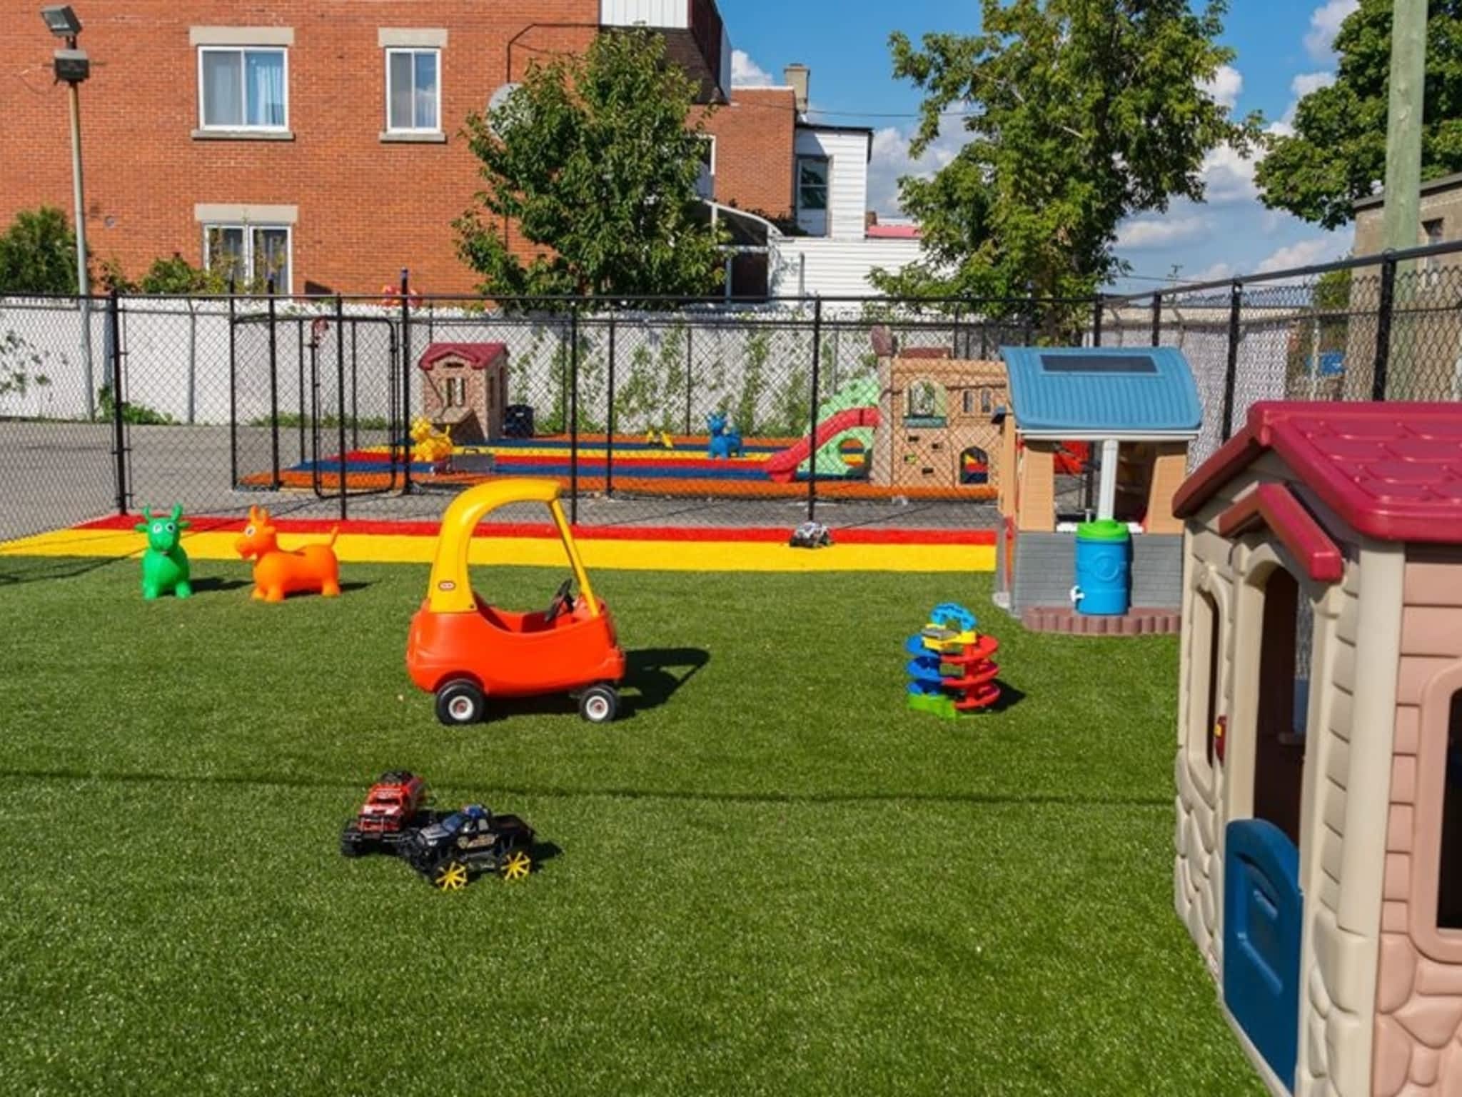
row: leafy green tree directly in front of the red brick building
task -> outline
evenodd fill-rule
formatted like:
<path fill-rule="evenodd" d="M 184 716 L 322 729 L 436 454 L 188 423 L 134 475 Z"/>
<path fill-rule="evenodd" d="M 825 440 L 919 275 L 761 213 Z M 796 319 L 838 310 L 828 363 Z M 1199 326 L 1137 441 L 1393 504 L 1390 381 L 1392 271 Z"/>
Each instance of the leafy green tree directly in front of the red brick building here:
<path fill-rule="evenodd" d="M 453 225 L 482 293 L 712 293 L 721 256 L 696 197 L 705 118 L 686 126 L 693 91 L 658 35 L 632 31 L 535 63 L 491 117 L 471 114 L 484 189 Z"/>

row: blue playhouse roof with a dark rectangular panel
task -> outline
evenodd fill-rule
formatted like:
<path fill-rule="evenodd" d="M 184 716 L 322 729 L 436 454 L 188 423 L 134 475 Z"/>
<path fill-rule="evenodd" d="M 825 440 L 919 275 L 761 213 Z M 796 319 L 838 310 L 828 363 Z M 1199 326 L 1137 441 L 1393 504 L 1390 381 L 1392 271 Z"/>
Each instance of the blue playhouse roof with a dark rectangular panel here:
<path fill-rule="evenodd" d="M 1203 421 L 1193 372 L 1174 347 L 1001 347 L 1025 434 L 1193 436 Z"/>

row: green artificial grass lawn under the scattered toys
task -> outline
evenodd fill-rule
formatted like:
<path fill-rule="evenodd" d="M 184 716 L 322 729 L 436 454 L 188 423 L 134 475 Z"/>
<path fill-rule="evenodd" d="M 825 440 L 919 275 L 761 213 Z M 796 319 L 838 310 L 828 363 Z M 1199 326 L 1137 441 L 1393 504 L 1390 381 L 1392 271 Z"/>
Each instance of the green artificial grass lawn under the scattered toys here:
<path fill-rule="evenodd" d="M 449 730 L 425 568 L 194 573 L 0 559 L 0 1093 L 1262 1093 L 1171 910 L 1171 638 L 1026 635 L 987 576 L 598 572 L 629 715 Z M 1004 712 L 905 711 L 944 600 Z M 452 894 L 342 859 L 398 766 L 557 856 Z"/>

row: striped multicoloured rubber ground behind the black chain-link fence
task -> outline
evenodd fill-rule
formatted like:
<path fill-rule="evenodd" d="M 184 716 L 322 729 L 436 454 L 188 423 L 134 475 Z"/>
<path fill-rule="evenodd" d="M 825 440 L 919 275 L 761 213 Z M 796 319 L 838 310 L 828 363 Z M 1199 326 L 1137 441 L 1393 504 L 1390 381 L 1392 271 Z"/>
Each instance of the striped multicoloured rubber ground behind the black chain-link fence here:
<path fill-rule="evenodd" d="M 846 434 L 848 431 L 836 431 Z M 993 499 L 991 484 L 959 487 L 889 487 L 867 481 L 868 452 L 852 439 L 830 439 L 836 453 L 823 445 L 817 461 L 817 496 L 822 499 L 920 499 L 981 500 Z M 580 491 L 618 490 L 624 493 L 693 497 L 798 499 L 807 494 L 807 439 L 747 439 L 743 456 L 712 458 L 706 437 L 680 434 L 671 446 L 643 437 L 617 434 L 580 434 L 577 442 L 566 434 L 532 439 L 501 439 L 481 446 L 458 446 L 459 465 L 411 462 L 411 478 L 421 484 L 466 486 L 493 477 L 532 475 L 557 478 L 569 484 L 577 462 Z M 487 461 L 490 458 L 490 462 Z M 784 478 L 773 478 L 778 467 Z M 794 471 L 795 470 L 795 471 Z M 981 470 L 982 471 L 982 470 Z M 346 490 L 390 489 L 404 478 L 401 448 L 374 446 L 301 461 L 279 470 L 279 486 L 292 489 L 339 490 L 341 475 Z M 269 471 L 249 472 L 249 486 L 273 486 Z"/>

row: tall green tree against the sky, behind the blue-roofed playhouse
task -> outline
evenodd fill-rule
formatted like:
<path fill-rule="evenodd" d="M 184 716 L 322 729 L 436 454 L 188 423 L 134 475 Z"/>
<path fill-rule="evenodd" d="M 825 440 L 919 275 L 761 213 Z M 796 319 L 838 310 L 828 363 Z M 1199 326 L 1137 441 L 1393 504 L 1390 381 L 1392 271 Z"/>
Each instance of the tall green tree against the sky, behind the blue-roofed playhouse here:
<path fill-rule="evenodd" d="M 981 34 L 890 38 L 895 76 L 925 92 L 911 152 L 947 113 L 969 135 L 933 178 L 899 180 L 923 230 L 918 263 L 879 272 L 914 297 L 1085 297 L 1127 269 L 1117 225 L 1202 199 L 1203 157 L 1247 149 L 1259 120 L 1230 118 L 1200 83 L 1230 61 L 1227 6 L 1189 0 L 982 0 Z M 1045 317 L 1050 328 L 1057 323 Z"/>

